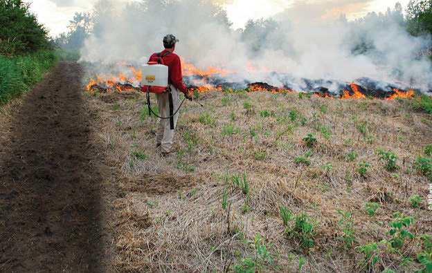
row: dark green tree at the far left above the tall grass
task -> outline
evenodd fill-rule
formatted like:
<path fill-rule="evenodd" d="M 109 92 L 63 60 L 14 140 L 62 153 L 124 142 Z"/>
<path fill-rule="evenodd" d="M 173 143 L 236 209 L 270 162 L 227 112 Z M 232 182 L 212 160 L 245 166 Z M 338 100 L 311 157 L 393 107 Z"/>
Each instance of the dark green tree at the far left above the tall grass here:
<path fill-rule="evenodd" d="M 0 54 L 34 52 L 48 47 L 48 31 L 29 11 L 30 3 L 0 0 Z"/>

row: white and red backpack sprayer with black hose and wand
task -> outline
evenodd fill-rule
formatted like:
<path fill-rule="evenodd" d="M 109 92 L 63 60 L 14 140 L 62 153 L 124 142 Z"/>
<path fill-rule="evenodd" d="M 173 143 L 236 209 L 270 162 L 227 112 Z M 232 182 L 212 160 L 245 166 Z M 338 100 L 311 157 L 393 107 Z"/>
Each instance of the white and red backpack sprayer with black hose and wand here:
<path fill-rule="evenodd" d="M 171 83 L 168 79 L 168 66 L 165 66 L 163 64 L 163 57 L 170 54 L 170 52 L 165 53 L 161 55 L 161 53 L 157 53 L 156 56 L 158 57 L 157 62 L 148 62 L 147 64 L 143 65 L 141 68 L 142 72 L 142 81 L 141 81 L 141 92 L 146 93 L 147 98 L 147 106 L 149 109 L 149 115 L 155 115 L 156 117 L 159 117 L 163 120 L 170 119 L 170 127 L 171 130 L 174 130 L 174 115 L 176 115 L 181 106 L 183 105 L 183 102 L 186 100 L 187 97 L 185 97 L 180 105 L 179 108 L 174 112 L 174 103 L 172 100 L 172 93 L 171 93 Z M 154 113 L 152 107 L 150 106 L 150 93 L 168 93 L 168 102 L 170 105 L 170 115 L 168 117 L 161 117 Z M 190 101 L 192 101 L 192 98 L 189 98 Z M 197 102 L 199 104 L 199 102 Z M 201 105 L 201 104 L 199 104 Z M 201 107 L 204 107 L 201 105 Z"/>

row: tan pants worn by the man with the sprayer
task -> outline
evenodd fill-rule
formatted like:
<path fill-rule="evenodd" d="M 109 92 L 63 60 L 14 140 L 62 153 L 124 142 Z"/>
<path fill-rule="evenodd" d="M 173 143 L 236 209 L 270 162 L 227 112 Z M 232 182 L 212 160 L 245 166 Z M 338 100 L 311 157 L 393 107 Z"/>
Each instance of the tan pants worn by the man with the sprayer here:
<path fill-rule="evenodd" d="M 171 84 L 172 104 L 174 104 L 173 113 L 179 108 L 179 91 Z M 168 93 L 156 94 L 159 115 L 161 117 L 170 116 L 170 101 L 168 100 Z M 174 130 L 177 126 L 177 119 L 179 113 L 174 115 Z M 174 141 L 174 130 L 171 130 L 170 119 L 163 120 L 159 118 L 156 129 L 156 143 L 161 144 L 163 152 L 170 152 L 172 142 Z"/>

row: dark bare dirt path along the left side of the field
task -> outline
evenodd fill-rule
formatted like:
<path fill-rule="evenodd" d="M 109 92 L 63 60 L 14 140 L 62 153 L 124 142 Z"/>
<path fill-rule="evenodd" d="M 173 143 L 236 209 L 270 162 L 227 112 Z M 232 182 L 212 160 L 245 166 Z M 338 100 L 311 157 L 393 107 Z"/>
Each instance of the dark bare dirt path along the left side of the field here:
<path fill-rule="evenodd" d="M 82 68 L 60 62 L 0 138 L 0 272 L 106 272 L 103 175 Z"/>

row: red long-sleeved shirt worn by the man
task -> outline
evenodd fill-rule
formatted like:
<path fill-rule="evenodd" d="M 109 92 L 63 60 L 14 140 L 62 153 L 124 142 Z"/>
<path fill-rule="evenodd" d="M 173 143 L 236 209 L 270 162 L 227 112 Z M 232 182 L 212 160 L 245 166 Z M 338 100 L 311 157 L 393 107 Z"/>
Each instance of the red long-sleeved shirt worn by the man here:
<path fill-rule="evenodd" d="M 168 50 L 163 50 L 161 53 L 161 56 L 165 53 L 167 53 Z M 153 53 L 152 56 L 150 56 L 149 62 L 157 62 L 157 55 L 156 53 Z M 181 63 L 180 63 L 180 57 L 177 54 L 170 53 L 163 57 L 163 64 L 165 66 L 168 66 L 168 79 L 170 79 L 171 84 L 173 84 L 177 90 L 187 94 L 188 88 L 184 86 L 183 84 L 183 76 L 181 75 Z"/>

